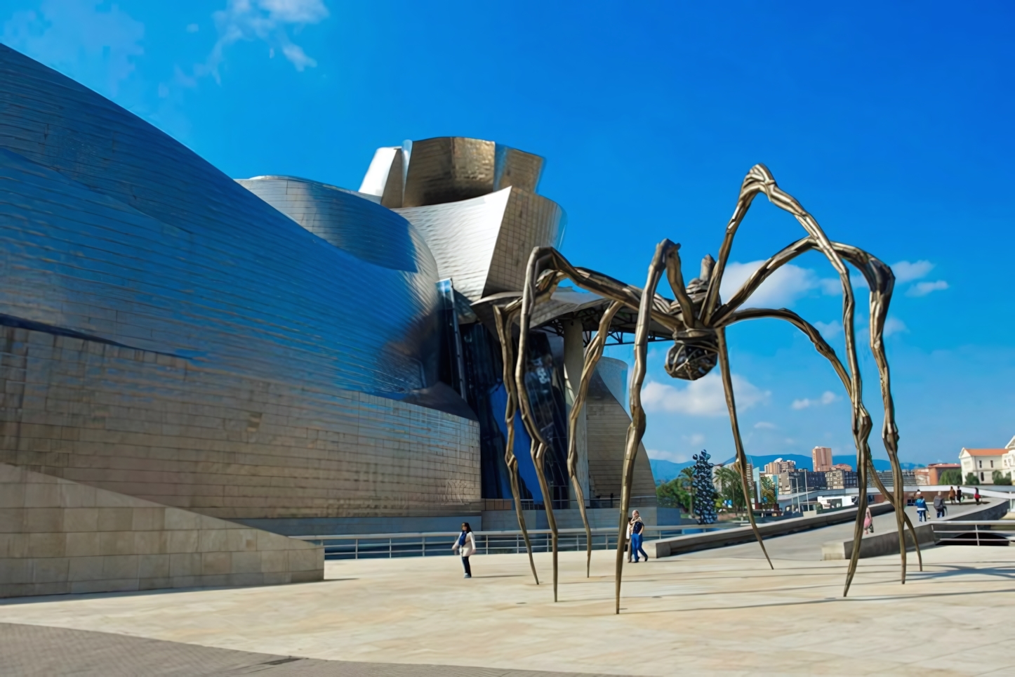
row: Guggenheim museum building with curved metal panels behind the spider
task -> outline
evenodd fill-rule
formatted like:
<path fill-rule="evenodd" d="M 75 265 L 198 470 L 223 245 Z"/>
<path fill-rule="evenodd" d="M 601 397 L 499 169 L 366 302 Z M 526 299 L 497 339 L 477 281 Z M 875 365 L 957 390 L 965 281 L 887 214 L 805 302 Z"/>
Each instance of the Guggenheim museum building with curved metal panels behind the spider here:
<path fill-rule="evenodd" d="M 490 309 L 563 241 L 543 158 L 442 137 L 363 170 L 350 188 L 227 177 L 0 46 L 0 465 L 276 534 L 517 528 Z M 566 421 L 604 306 L 561 288 L 530 337 L 552 495 L 518 421 L 523 505 L 552 500 L 561 526 L 580 524 Z M 604 359 L 578 432 L 610 525 L 625 386 Z M 656 504 L 644 453 L 633 493 Z"/>

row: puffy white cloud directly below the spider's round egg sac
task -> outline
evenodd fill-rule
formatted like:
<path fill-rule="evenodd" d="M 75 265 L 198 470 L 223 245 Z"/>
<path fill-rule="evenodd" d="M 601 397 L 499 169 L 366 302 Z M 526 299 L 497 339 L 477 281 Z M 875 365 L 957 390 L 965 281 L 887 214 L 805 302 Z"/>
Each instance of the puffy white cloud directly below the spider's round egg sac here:
<path fill-rule="evenodd" d="M 738 410 L 750 409 L 763 403 L 770 395 L 736 374 L 733 375 L 733 392 Z M 650 412 L 691 416 L 725 416 L 728 413 L 723 382 L 718 374 L 692 381 L 685 388 L 650 381 L 641 389 L 641 402 L 646 411 Z"/>

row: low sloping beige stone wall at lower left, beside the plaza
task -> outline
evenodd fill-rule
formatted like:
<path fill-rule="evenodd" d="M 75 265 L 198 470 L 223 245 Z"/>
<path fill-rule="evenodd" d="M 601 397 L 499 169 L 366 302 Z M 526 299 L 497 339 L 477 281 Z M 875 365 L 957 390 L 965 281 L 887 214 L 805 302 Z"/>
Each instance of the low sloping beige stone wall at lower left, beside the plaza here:
<path fill-rule="evenodd" d="M 321 546 L 0 464 L 0 598 L 323 578 Z"/>

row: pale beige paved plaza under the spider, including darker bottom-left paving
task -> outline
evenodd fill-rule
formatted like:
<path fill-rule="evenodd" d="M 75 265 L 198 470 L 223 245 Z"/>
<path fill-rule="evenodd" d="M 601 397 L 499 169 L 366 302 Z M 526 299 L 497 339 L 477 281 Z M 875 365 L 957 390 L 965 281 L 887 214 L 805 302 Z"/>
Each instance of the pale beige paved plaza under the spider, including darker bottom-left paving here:
<path fill-rule="evenodd" d="M 780 541 L 773 571 L 745 546 L 628 565 L 619 616 L 609 551 L 594 553 L 590 579 L 583 553 L 561 553 L 557 604 L 547 555 L 537 556 L 539 587 L 524 555 L 475 557 L 471 581 L 457 558 L 413 557 L 329 561 L 321 583 L 8 600 L 0 638 L 30 665 L 92 661 L 99 668 L 75 674 L 104 675 L 1015 672 L 1010 549 L 927 548 L 905 586 L 897 556 L 861 560 L 842 599 L 844 562 L 779 558 Z M 123 661 L 133 667 L 114 669 Z"/>

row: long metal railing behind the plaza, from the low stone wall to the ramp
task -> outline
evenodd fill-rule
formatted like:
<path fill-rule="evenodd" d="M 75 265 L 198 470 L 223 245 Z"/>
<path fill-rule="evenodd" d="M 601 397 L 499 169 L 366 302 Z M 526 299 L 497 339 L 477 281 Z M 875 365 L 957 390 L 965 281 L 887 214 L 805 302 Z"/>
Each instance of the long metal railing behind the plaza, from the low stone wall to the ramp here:
<path fill-rule="evenodd" d="M 701 527 L 646 526 L 646 540 L 668 538 L 683 534 L 698 534 L 718 529 L 742 526 L 739 522 Z M 325 559 L 369 559 L 390 557 L 433 557 L 451 555 L 451 546 L 461 532 L 420 532 L 399 534 L 340 534 L 329 536 L 293 536 L 292 538 L 324 545 Z M 476 531 L 477 554 L 518 554 L 525 552 L 525 539 L 521 531 Z M 533 552 L 550 552 L 549 529 L 530 529 L 529 539 Z M 617 547 L 617 530 L 598 528 L 592 530 L 594 550 L 612 550 Z M 585 529 L 558 529 L 557 550 L 567 552 L 586 549 Z"/>

